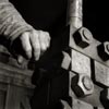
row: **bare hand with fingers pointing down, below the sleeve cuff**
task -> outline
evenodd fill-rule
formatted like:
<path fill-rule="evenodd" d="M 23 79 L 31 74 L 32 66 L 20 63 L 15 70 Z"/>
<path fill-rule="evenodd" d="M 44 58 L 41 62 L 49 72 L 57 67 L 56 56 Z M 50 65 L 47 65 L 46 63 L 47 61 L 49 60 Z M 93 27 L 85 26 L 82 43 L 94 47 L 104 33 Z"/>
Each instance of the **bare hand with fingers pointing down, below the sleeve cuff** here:
<path fill-rule="evenodd" d="M 37 61 L 50 46 L 50 35 L 49 33 L 43 31 L 25 32 L 19 37 L 19 41 L 24 55 L 19 50 L 17 62 L 22 63 L 23 57 L 26 59 L 33 58 L 35 61 Z"/>

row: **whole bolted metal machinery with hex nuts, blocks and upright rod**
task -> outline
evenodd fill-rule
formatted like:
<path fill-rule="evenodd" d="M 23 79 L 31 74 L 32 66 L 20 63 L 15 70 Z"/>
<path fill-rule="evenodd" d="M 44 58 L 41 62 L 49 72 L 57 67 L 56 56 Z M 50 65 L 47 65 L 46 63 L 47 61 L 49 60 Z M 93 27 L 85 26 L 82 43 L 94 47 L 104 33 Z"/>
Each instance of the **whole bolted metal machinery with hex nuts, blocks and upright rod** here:
<path fill-rule="evenodd" d="M 109 41 L 100 43 L 83 26 L 83 1 L 69 0 L 70 53 L 64 64 L 69 70 L 69 94 L 72 105 L 65 109 L 109 108 Z"/>

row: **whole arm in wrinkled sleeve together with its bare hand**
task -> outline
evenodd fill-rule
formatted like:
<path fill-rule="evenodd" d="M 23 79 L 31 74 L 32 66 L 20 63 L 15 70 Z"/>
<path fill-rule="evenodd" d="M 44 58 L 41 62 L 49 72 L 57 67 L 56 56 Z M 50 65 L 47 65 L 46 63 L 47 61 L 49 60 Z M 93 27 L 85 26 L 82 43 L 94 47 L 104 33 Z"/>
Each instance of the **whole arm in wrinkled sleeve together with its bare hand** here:
<path fill-rule="evenodd" d="M 10 45 L 15 44 L 14 40 L 19 37 L 20 44 L 28 59 L 34 56 L 34 59 L 38 60 L 40 51 L 45 51 L 49 47 L 49 34 L 47 32 L 36 31 L 27 24 L 9 0 L 0 0 L 0 35 Z"/>

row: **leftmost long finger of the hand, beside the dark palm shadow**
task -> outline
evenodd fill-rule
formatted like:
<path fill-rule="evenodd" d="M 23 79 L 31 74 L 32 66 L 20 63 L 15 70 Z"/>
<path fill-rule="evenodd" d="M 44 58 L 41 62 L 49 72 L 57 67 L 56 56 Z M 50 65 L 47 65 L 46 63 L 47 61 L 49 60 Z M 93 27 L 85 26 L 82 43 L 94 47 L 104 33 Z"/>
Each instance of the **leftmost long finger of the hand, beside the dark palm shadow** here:
<path fill-rule="evenodd" d="M 23 50 L 25 51 L 26 58 L 28 58 L 28 59 L 32 58 L 32 46 L 31 46 L 31 41 L 29 41 L 29 36 L 31 36 L 31 34 L 28 32 L 24 33 L 21 36 L 22 47 L 23 47 Z"/>

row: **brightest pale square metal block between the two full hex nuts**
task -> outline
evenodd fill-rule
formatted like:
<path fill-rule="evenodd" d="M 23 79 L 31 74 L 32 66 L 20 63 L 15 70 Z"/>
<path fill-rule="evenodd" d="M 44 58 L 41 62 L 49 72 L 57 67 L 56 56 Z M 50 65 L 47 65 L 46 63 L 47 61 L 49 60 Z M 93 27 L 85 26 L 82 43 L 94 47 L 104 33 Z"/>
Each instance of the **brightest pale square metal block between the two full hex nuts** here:
<path fill-rule="evenodd" d="M 72 49 L 71 50 L 71 71 L 78 74 L 86 74 L 90 76 L 90 59 L 85 55 Z"/>

